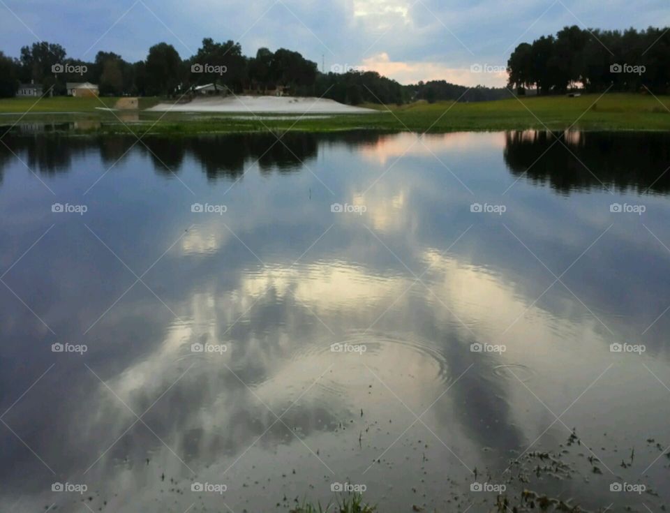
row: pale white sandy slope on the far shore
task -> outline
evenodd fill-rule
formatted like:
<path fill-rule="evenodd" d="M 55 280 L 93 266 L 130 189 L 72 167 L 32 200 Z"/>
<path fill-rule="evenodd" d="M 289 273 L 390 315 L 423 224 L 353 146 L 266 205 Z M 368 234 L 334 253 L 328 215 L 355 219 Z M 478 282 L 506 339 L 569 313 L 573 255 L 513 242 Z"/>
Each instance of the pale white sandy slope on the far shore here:
<path fill-rule="evenodd" d="M 344 105 L 326 98 L 299 98 L 290 96 L 229 96 L 228 98 L 197 98 L 189 103 L 159 103 L 149 111 L 163 112 L 239 112 L 254 114 L 366 114 L 376 112 L 362 107 Z"/>

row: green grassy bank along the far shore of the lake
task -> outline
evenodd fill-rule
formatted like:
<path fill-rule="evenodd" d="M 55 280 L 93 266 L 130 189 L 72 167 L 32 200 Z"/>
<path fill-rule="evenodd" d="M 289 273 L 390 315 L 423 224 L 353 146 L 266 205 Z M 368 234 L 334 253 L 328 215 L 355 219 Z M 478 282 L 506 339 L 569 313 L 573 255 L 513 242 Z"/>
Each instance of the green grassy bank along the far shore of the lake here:
<path fill-rule="evenodd" d="M 127 133 L 137 135 L 149 131 L 165 135 L 195 135 L 199 133 L 228 133 L 287 130 L 326 132 L 353 129 L 378 131 L 416 131 L 446 133 L 453 131 L 497 131 L 543 129 L 563 130 L 568 127 L 586 131 L 670 130 L 670 96 L 655 97 L 650 94 L 584 95 L 579 98 L 566 96 L 511 98 L 509 100 L 454 103 L 417 102 L 409 105 L 365 105 L 377 112 L 373 114 L 345 114 L 332 117 L 302 119 L 246 119 L 251 114 L 188 114 L 140 112 L 137 119 L 124 122 L 110 112 L 96 107 L 114 105 L 117 98 L 44 98 L 36 105 L 31 98 L 0 100 L 0 122 L 18 119 L 20 113 L 32 106 L 30 121 L 77 121 L 81 117 L 99 121 L 88 128 L 96 133 Z M 142 98 L 140 109 L 156 103 L 156 98 Z M 102 102 L 102 103 L 101 103 Z M 76 114 L 50 114 L 75 112 Z"/>

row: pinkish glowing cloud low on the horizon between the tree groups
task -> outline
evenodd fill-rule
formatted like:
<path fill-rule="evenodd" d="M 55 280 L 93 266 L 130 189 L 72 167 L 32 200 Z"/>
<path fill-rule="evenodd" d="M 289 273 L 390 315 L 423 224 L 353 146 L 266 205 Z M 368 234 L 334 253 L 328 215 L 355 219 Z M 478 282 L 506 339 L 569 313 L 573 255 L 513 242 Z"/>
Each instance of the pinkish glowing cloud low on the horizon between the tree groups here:
<path fill-rule="evenodd" d="M 505 66 L 505 63 L 487 64 L 472 63 L 480 66 Z M 465 86 L 486 85 L 489 87 L 503 87 L 507 84 L 507 72 L 473 73 L 468 68 L 452 68 L 441 62 L 426 61 L 392 61 L 389 54 L 382 52 L 363 59 L 362 66 L 366 70 L 374 70 L 401 84 L 416 84 L 419 80 L 446 80 L 452 84 Z M 490 68 L 489 68 L 490 69 Z"/>

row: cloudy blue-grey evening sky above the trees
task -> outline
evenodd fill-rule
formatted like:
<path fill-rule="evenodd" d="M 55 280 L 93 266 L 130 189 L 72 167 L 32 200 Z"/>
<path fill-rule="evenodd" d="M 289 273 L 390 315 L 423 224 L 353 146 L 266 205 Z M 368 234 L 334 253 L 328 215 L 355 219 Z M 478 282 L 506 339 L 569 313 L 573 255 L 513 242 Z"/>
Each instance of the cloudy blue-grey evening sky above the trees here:
<path fill-rule="evenodd" d="M 503 86 L 510 52 L 566 25 L 670 26 L 667 0 L 0 0 L 0 50 L 38 40 L 68 57 L 99 50 L 127 61 L 165 41 L 182 58 L 204 37 L 296 50 L 320 69 L 375 70 L 401 84 Z M 481 70 L 481 71 L 479 71 Z"/>

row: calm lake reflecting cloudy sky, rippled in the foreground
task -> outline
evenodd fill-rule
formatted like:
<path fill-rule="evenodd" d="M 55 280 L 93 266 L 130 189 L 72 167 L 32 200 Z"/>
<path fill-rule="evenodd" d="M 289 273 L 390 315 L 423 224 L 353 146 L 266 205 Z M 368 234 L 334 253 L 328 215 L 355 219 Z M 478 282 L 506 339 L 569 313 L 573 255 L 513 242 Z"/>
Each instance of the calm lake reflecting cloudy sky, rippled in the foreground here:
<path fill-rule="evenodd" d="M 61 128 L 0 146 L 0 510 L 667 505 L 670 135 Z"/>

